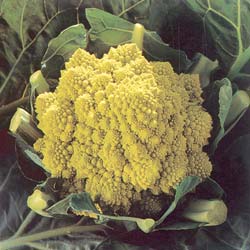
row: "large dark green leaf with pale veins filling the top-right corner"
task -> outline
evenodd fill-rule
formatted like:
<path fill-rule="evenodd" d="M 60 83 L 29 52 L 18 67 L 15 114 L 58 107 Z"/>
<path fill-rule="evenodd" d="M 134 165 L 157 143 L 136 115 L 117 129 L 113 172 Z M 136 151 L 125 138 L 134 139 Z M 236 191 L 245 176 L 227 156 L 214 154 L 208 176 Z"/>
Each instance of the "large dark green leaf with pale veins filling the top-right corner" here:
<path fill-rule="evenodd" d="M 229 71 L 229 79 L 234 79 L 250 61 L 249 1 L 187 0 L 185 4 L 202 18 L 214 53 Z"/>

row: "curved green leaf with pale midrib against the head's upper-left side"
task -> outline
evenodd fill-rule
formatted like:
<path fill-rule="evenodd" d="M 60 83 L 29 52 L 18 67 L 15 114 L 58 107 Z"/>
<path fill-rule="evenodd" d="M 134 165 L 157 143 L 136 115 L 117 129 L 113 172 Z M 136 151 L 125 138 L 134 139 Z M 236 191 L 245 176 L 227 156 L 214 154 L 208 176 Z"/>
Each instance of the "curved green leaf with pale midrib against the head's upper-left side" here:
<path fill-rule="evenodd" d="M 72 25 L 63 30 L 49 42 L 41 62 L 43 75 L 46 78 L 58 78 L 64 62 L 68 61 L 76 49 L 85 49 L 86 46 L 86 30 L 83 24 Z"/>

